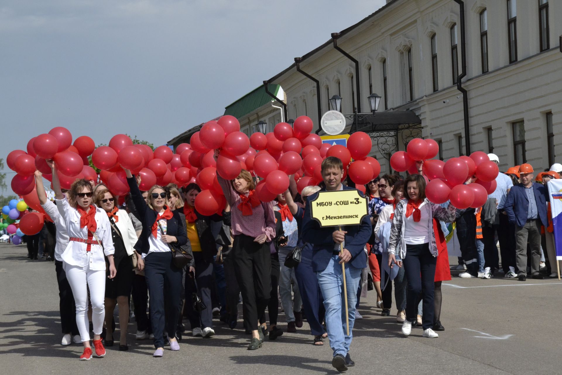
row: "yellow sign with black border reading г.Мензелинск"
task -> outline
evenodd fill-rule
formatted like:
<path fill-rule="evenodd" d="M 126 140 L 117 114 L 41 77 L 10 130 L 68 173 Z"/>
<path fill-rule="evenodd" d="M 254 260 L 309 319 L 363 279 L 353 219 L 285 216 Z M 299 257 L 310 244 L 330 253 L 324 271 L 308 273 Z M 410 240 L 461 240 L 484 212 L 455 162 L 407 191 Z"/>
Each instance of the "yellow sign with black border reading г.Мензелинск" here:
<path fill-rule="evenodd" d="M 359 225 L 369 215 L 368 200 L 357 189 L 321 191 L 310 202 L 310 209 L 320 227 Z"/>

